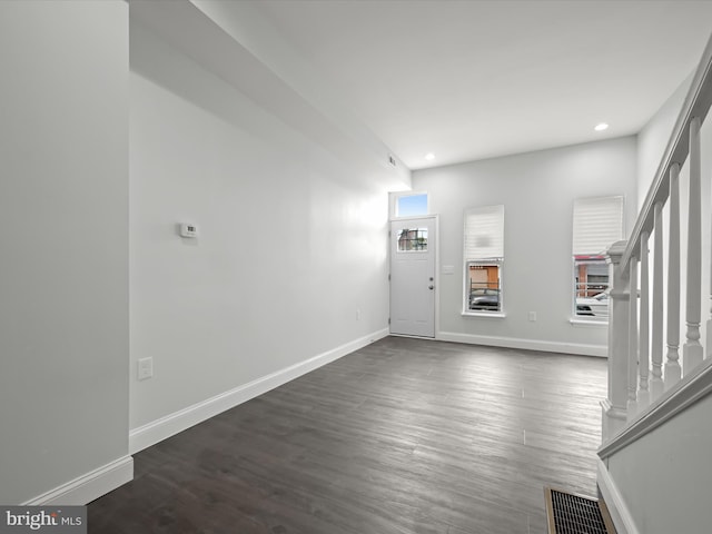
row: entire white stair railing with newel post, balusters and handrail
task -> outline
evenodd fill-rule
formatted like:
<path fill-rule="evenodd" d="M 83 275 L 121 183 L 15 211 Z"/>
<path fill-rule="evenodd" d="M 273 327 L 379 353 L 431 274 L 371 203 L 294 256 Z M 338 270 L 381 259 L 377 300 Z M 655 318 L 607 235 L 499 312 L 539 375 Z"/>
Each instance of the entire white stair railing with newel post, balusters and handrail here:
<path fill-rule="evenodd" d="M 641 418 L 656 403 L 661 403 L 669 392 L 679 388 L 681 380 L 686 380 L 702 367 L 706 367 L 701 365 L 704 360 L 704 349 L 700 343 L 701 214 L 702 201 L 706 205 L 711 202 L 710 199 L 701 198 L 700 129 L 711 105 L 712 39 L 702 55 L 631 237 L 627 241 L 614 244 L 607 254 L 612 285 L 609 320 L 609 396 L 602 403 L 604 444 L 634 419 Z M 680 241 L 680 171 L 688 159 L 690 195 L 684 221 L 688 228 L 688 246 L 684 258 L 686 269 L 683 274 Z M 665 205 L 669 205 L 668 221 L 663 220 Z M 666 243 L 663 241 L 665 224 Z M 654 247 L 652 258 L 649 254 L 651 237 Z M 663 265 L 663 248 L 668 253 L 666 265 Z M 665 279 L 668 291 L 666 298 L 663 298 Z M 681 288 L 685 291 L 686 324 L 682 357 Z M 708 319 L 706 335 L 705 345 L 710 350 L 712 315 Z M 663 347 L 664 340 L 666 347 Z M 711 359 L 709 354 L 708 359 Z"/>

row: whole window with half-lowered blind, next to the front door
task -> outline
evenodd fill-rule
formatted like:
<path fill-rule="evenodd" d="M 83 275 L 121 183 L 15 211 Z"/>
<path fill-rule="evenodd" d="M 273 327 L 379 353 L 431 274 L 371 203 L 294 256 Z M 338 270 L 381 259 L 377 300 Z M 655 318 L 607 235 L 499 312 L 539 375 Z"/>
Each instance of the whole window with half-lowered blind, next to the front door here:
<path fill-rule="evenodd" d="M 504 206 L 482 206 L 466 209 L 464 230 L 465 291 L 463 314 L 502 314 Z"/>

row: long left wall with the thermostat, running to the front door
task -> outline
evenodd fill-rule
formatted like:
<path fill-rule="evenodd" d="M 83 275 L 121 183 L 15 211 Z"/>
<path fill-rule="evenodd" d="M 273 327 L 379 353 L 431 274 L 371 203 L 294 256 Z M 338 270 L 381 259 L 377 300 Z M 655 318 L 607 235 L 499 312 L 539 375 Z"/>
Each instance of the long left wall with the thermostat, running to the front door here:
<path fill-rule="evenodd" d="M 139 23 L 130 53 L 136 431 L 384 332 L 388 196 Z"/>

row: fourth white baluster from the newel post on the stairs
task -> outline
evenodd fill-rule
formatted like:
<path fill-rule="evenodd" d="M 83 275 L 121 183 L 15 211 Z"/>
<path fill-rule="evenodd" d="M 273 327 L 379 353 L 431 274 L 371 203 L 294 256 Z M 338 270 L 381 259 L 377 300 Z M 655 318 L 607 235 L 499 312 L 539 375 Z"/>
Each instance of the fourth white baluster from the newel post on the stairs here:
<path fill-rule="evenodd" d="M 670 168 L 670 236 L 668 251 L 668 357 L 665 389 L 680 382 L 680 165 Z M 708 333 L 710 329 L 708 329 Z M 710 346 L 710 345 L 708 345 Z"/>

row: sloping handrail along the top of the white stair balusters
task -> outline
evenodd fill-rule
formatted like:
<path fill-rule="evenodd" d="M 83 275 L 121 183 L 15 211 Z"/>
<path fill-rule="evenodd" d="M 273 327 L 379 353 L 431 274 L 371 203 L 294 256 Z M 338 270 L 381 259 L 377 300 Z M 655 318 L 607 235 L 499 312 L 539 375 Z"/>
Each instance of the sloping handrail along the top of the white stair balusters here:
<path fill-rule="evenodd" d="M 690 121 L 694 117 L 700 117 L 701 121 L 712 106 L 712 37 L 702 53 L 698 70 L 692 79 L 692 85 L 685 97 L 682 110 L 675 121 L 675 127 L 670 137 L 663 158 L 655 172 L 655 178 L 647 190 L 645 201 L 640 215 L 635 220 L 635 226 L 627 241 L 627 247 L 621 259 L 621 268 L 629 273 L 631 258 L 636 255 L 640 239 L 643 231 L 652 233 L 654 221 L 654 209 L 657 202 L 665 202 L 670 195 L 670 168 L 674 164 L 683 166 L 688 159 L 690 148 Z M 624 275 L 627 278 L 627 275 Z"/>

